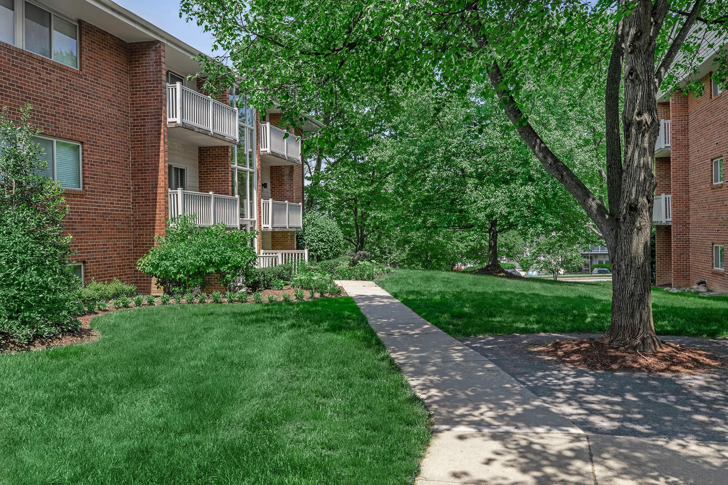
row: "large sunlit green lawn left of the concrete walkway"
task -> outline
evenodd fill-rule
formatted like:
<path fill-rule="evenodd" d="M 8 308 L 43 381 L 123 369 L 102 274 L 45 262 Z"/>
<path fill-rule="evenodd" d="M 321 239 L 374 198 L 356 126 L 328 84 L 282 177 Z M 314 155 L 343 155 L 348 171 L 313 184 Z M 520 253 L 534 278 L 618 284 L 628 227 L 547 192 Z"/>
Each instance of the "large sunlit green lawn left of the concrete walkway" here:
<path fill-rule="evenodd" d="M 427 412 L 348 297 L 173 305 L 0 356 L 0 484 L 411 484 Z"/>

